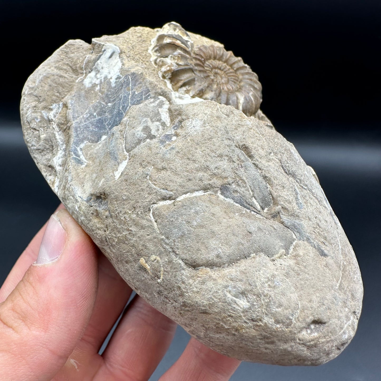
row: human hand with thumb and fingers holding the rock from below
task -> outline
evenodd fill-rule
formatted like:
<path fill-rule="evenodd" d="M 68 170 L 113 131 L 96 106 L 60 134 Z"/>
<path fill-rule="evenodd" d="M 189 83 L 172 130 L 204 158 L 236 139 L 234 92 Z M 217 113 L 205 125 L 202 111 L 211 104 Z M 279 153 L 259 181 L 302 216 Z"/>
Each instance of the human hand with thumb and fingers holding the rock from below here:
<path fill-rule="evenodd" d="M 0 289 L 0 379 L 148 380 L 176 324 L 140 297 L 98 354 L 131 292 L 61 206 Z M 228 380 L 239 363 L 192 338 L 160 381 Z"/>

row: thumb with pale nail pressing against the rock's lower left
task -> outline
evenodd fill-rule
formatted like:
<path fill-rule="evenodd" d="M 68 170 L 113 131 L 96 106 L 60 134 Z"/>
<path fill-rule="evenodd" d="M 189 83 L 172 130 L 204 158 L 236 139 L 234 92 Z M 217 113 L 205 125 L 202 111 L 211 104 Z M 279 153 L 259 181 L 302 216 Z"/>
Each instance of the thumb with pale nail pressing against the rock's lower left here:
<path fill-rule="evenodd" d="M 50 380 L 64 365 L 93 310 L 96 258 L 69 213 L 54 213 L 37 261 L 0 304 L 1 380 Z"/>

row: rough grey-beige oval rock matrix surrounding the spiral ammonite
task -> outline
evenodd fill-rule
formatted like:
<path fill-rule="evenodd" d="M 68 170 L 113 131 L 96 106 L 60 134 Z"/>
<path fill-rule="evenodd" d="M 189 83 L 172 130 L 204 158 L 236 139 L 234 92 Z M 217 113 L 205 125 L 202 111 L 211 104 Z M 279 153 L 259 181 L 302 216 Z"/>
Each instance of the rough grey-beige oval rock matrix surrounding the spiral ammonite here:
<path fill-rule="evenodd" d="M 156 34 L 70 40 L 38 67 L 21 101 L 32 157 L 126 282 L 202 343 L 253 362 L 333 359 L 363 290 L 321 187 L 260 111 L 171 91 L 150 61 Z"/>

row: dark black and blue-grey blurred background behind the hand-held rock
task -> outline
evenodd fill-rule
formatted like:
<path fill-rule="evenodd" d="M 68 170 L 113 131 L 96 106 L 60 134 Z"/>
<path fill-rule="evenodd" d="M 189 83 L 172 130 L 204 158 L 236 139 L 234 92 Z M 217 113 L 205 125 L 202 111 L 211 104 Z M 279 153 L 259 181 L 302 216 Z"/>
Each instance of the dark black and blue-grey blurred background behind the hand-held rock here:
<path fill-rule="evenodd" d="M 71 38 L 179 22 L 224 43 L 259 75 L 261 109 L 317 172 L 364 283 L 352 343 L 319 367 L 243 363 L 236 381 L 381 380 L 381 1 L 0 0 L 0 284 L 58 199 L 22 140 L 19 101 L 36 67 Z M 181 329 L 152 380 L 186 345 Z"/>

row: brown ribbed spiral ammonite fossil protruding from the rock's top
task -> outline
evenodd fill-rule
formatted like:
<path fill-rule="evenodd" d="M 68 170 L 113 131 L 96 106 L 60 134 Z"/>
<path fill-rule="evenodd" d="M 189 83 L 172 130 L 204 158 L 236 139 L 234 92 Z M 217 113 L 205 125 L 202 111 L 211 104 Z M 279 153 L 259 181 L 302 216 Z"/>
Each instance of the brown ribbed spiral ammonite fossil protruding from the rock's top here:
<path fill-rule="evenodd" d="M 186 30 L 170 22 L 152 40 L 150 52 L 172 90 L 233 106 L 247 116 L 258 111 L 258 76 L 222 46 L 194 46 Z"/>

